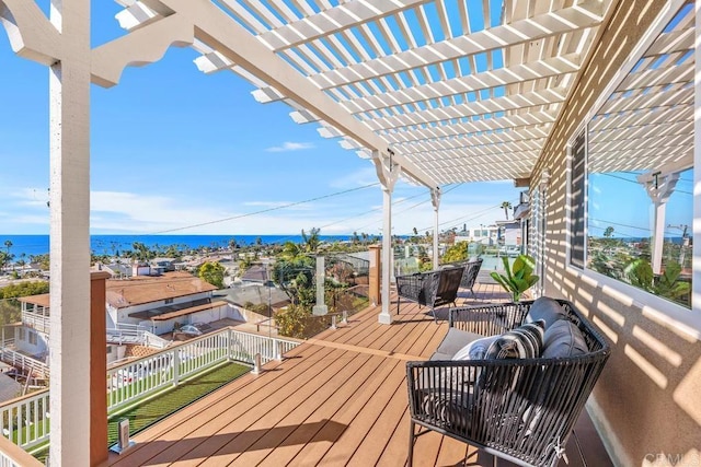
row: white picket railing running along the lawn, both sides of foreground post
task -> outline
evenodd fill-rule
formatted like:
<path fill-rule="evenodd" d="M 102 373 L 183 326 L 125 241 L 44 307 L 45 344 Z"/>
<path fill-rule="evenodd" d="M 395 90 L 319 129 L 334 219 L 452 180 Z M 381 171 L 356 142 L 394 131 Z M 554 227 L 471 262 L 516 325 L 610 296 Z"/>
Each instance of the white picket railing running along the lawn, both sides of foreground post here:
<path fill-rule="evenodd" d="M 260 353 L 262 362 L 269 362 L 299 343 L 226 328 L 112 367 L 106 375 L 107 416 L 225 361 L 253 364 Z M 23 450 L 47 442 L 48 408 L 48 389 L 0 405 L 2 434 Z"/>

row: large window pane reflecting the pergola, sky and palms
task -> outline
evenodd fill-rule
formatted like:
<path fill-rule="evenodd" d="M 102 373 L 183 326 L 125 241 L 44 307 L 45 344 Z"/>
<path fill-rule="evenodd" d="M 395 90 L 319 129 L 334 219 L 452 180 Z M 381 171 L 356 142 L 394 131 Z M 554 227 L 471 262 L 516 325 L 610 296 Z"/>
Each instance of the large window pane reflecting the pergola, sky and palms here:
<path fill-rule="evenodd" d="M 691 307 L 693 5 L 667 24 L 571 144 L 573 266 Z M 691 39 L 690 39 L 691 40 Z"/>

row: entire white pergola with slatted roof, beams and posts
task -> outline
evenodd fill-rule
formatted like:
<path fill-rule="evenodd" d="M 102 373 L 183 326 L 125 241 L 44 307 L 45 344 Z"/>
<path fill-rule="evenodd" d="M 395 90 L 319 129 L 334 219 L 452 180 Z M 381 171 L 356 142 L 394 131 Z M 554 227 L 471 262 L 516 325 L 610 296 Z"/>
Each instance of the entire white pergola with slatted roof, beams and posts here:
<path fill-rule="evenodd" d="M 117 0 L 127 33 L 90 45 L 90 0 L 0 0 L 18 55 L 50 68 L 51 460 L 87 462 L 77 410 L 90 394 L 90 83 L 112 86 L 127 66 L 171 46 L 229 70 L 261 103 L 283 101 L 376 166 L 383 262 L 390 264 L 398 178 L 443 185 L 528 178 L 616 0 Z M 691 35 L 692 36 L 692 35 Z M 692 38 L 692 37 L 691 37 Z M 437 227 L 436 227 L 437 232 Z M 434 235 L 437 254 L 438 236 Z M 380 322 L 389 314 L 383 268 Z M 80 460 L 79 460 L 80 459 Z"/>

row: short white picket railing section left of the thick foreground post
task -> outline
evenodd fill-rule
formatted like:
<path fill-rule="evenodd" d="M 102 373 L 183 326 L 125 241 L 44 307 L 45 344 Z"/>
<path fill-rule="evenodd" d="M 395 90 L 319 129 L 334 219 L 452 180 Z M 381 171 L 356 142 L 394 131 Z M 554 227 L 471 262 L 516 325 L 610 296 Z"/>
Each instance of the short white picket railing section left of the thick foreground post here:
<path fill-rule="evenodd" d="M 48 389 L 0 405 L 2 435 L 23 450 L 48 441 Z"/>

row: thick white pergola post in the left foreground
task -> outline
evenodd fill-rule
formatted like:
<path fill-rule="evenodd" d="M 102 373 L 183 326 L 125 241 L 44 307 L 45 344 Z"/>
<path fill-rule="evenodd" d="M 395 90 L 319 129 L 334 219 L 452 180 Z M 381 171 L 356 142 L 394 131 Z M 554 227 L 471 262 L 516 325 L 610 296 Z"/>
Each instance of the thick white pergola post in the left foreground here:
<path fill-rule="evenodd" d="M 49 458 L 90 465 L 90 0 L 51 2 Z M 95 413 L 96 417 L 105 416 Z"/>

